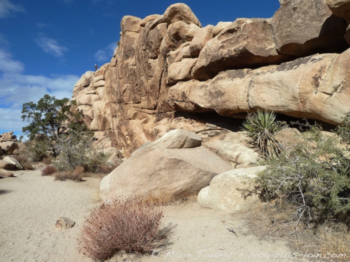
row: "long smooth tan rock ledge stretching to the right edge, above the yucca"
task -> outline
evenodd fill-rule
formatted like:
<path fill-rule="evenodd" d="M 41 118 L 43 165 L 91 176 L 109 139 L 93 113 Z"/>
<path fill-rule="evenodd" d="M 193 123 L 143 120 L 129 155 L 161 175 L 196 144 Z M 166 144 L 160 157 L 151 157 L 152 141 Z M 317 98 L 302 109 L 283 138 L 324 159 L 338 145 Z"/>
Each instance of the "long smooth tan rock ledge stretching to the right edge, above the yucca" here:
<path fill-rule="evenodd" d="M 168 91 L 174 110 L 232 116 L 264 108 L 339 124 L 350 110 L 350 49 L 280 65 L 227 70 L 205 82 L 178 82 Z"/>

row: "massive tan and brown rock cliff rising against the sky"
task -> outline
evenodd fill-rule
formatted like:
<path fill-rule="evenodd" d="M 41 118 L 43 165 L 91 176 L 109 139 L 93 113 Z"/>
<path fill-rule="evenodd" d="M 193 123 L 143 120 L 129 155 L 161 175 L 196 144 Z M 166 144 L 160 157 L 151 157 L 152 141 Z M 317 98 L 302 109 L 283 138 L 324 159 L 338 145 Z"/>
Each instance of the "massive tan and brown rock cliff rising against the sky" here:
<path fill-rule="evenodd" d="M 83 74 L 72 99 L 100 145 L 125 157 L 182 128 L 241 165 L 239 155 L 253 152 L 243 146 L 233 156 L 217 145 L 243 141 L 239 133 L 193 113 L 218 119 L 267 109 L 339 123 L 350 110 L 350 19 L 341 11 L 349 2 L 283 0 L 272 18 L 205 27 L 183 3 L 162 15 L 124 16 L 110 62 Z"/>

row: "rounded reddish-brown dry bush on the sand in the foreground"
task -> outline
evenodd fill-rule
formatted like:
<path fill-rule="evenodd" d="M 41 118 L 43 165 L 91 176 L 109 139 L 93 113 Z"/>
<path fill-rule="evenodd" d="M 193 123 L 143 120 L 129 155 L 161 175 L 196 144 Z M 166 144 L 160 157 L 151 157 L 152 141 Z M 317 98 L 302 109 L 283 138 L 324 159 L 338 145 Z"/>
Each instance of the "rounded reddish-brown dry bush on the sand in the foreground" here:
<path fill-rule="evenodd" d="M 151 252 L 173 228 L 161 228 L 162 214 L 161 206 L 139 199 L 106 202 L 84 221 L 78 250 L 95 260 L 105 260 L 119 250 Z"/>

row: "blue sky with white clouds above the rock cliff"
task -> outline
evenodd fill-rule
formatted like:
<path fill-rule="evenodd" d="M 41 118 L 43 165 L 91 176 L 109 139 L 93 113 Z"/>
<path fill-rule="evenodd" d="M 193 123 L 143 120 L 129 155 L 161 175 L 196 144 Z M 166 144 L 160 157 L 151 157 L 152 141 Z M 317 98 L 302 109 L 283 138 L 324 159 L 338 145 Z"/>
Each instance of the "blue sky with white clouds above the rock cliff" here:
<path fill-rule="evenodd" d="M 21 135 L 24 102 L 71 97 L 75 82 L 109 62 L 124 15 L 162 14 L 168 0 L 0 0 L 0 133 Z M 203 26 L 271 17 L 278 0 L 183 0 Z"/>

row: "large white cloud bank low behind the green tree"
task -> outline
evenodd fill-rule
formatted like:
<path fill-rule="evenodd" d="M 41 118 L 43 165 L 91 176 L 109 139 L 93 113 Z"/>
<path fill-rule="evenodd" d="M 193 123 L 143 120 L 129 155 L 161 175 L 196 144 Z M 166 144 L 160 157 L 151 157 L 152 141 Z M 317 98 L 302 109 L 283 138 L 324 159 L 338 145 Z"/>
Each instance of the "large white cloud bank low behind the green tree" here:
<path fill-rule="evenodd" d="M 21 109 L 25 102 L 37 102 L 44 94 L 56 98 L 71 97 L 73 86 L 80 78 L 77 75 L 29 75 L 23 74 L 24 65 L 13 60 L 0 48 L 0 65 L 10 64 L 10 69 L 0 67 L 0 129 L 21 135 Z"/>

